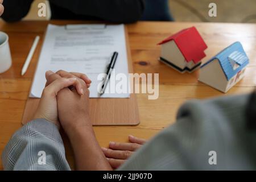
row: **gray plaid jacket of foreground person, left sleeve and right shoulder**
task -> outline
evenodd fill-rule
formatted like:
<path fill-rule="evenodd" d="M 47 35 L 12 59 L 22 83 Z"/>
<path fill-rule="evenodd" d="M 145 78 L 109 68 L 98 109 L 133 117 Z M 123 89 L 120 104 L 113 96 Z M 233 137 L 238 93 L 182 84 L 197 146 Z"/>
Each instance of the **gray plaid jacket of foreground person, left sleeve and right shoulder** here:
<path fill-rule="evenodd" d="M 249 121 L 249 106 L 256 107 L 249 94 L 188 101 L 179 109 L 177 122 L 119 170 L 255 170 L 256 132 L 248 123 L 256 120 Z M 6 170 L 70 170 L 59 130 L 44 119 L 16 131 L 2 161 Z"/>

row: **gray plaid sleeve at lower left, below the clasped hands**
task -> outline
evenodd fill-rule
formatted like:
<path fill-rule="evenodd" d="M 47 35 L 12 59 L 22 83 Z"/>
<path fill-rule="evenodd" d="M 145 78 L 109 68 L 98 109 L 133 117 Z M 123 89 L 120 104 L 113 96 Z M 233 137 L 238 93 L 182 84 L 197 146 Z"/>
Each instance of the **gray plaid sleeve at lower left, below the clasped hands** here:
<path fill-rule="evenodd" d="M 5 170 L 70 170 L 57 126 L 46 119 L 28 122 L 2 154 Z"/>

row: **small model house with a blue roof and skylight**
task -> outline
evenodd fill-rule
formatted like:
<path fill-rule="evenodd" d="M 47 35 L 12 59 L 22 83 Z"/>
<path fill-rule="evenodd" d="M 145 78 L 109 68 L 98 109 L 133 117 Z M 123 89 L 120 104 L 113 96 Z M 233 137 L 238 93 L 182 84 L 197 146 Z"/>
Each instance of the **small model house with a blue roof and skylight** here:
<path fill-rule="evenodd" d="M 242 44 L 233 43 L 201 66 L 199 81 L 226 93 L 245 76 L 248 64 Z"/>

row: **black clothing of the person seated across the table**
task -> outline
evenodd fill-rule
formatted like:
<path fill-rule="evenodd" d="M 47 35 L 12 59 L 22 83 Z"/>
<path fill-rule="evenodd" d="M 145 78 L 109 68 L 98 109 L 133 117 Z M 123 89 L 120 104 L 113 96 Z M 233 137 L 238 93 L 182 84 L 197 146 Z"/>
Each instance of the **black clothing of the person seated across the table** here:
<path fill-rule="evenodd" d="M 6 22 L 16 22 L 27 15 L 33 0 L 3 1 Z M 139 20 L 144 0 L 49 0 L 51 19 L 107 20 L 131 23 Z"/>

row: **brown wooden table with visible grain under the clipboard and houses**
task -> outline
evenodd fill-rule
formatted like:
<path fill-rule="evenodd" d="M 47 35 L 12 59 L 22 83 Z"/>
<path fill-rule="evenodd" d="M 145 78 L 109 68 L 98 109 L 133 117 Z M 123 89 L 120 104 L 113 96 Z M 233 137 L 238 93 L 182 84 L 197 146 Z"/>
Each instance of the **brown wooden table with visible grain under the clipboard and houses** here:
<path fill-rule="evenodd" d="M 0 21 L 0 30 L 10 36 L 13 57 L 13 66 L 9 71 L 0 74 L 0 154 L 11 135 L 22 126 L 20 121 L 38 61 L 42 39 L 26 75 L 20 76 L 20 72 L 35 36 L 43 37 L 48 23 L 85 22 L 24 21 L 7 24 Z M 203 62 L 235 41 L 240 41 L 243 44 L 243 48 L 249 56 L 250 65 L 246 70 L 245 78 L 227 94 L 198 82 L 198 71 L 182 75 L 158 61 L 160 47 L 156 44 L 167 36 L 191 26 L 196 26 L 208 45 L 207 57 Z M 141 118 L 141 124 L 138 126 L 94 127 L 101 146 L 108 146 L 111 140 L 126 142 L 129 134 L 146 139 L 154 136 L 164 127 L 175 122 L 177 109 L 187 100 L 249 93 L 256 85 L 256 24 L 138 22 L 129 24 L 127 27 L 134 72 L 159 73 L 159 98 L 158 100 L 148 100 L 147 94 L 137 94 Z M 67 158 L 73 167 L 73 155 L 71 148 L 69 145 L 67 146 Z M 0 166 L 2 169 L 1 161 Z"/>

